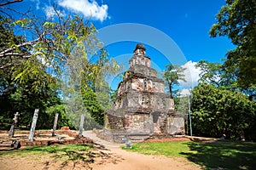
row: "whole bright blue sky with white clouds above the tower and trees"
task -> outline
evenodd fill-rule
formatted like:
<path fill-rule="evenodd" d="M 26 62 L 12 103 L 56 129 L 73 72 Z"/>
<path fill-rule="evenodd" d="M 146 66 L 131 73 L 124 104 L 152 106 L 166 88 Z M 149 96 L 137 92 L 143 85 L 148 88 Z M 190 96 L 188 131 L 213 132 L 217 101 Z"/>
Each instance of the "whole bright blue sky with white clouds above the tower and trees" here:
<path fill-rule="evenodd" d="M 31 7 L 36 14 L 49 17 L 52 4 L 66 13 L 84 14 L 100 34 L 111 28 L 104 34 L 109 40 L 108 52 L 123 65 L 127 66 L 137 42 L 146 46 L 152 66 L 158 71 L 170 62 L 185 65 L 190 69 L 191 81 L 183 88 L 195 86 L 200 73 L 194 67 L 197 61 L 222 62 L 226 52 L 234 48 L 227 37 L 209 36 L 224 0 L 24 0 L 12 6 L 19 10 Z"/>

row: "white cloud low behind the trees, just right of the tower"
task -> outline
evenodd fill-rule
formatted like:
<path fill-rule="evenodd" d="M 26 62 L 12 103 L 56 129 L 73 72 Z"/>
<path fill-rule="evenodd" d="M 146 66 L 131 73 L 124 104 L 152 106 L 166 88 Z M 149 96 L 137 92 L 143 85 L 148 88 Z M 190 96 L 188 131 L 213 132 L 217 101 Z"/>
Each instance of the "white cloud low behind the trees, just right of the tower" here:
<path fill-rule="evenodd" d="M 200 79 L 199 74 L 201 70 L 199 68 L 195 68 L 196 62 L 192 62 L 191 60 L 182 65 L 186 70 L 183 72 L 185 75 L 185 80 L 187 82 L 179 81 L 180 86 L 182 88 L 194 88 L 198 84 L 198 80 Z"/>

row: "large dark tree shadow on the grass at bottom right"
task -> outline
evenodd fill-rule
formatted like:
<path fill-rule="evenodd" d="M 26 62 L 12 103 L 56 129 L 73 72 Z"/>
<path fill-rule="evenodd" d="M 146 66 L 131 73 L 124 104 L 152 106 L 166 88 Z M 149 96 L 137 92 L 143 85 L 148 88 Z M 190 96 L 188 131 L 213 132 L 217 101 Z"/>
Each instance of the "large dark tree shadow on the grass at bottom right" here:
<path fill-rule="evenodd" d="M 189 161 L 206 169 L 255 169 L 256 144 L 230 141 L 189 142 Z"/>

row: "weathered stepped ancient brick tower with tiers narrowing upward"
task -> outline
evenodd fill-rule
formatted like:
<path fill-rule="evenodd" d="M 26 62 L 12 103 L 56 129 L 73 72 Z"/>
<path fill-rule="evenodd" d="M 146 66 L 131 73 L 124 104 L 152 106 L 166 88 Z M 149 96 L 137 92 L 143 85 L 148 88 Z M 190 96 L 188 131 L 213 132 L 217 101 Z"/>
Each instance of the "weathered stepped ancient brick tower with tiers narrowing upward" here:
<path fill-rule="evenodd" d="M 137 44 L 129 71 L 119 82 L 115 104 L 107 111 L 104 130 L 112 139 L 184 133 L 183 115 L 174 111 L 173 99 L 165 94 L 164 81 L 150 67 L 145 51 L 142 44 Z"/>

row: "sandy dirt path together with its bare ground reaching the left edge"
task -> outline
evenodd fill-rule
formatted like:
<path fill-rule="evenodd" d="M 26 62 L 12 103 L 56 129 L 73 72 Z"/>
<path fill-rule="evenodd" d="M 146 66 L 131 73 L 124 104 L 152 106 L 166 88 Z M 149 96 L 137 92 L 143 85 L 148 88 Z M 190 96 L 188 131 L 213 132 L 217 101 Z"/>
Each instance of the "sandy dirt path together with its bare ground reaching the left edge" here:
<path fill-rule="evenodd" d="M 54 154 L 45 155 L 0 155 L 0 170 L 55 170 L 55 169 L 96 169 L 96 170 L 165 170 L 165 169 L 201 169 L 200 166 L 185 158 L 168 158 L 166 156 L 144 156 L 136 152 L 120 149 L 120 144 L 111 143 L 96 137 L 91 131 L 84 132 L 84 136 L 93 139 L 96 144 L 102 144 L 106 150 L 95 150 L 101 153 L 94 163 L 84 167 L 83 162 L 73 164 L 73 161 L 64 164 L 64 160 L 55 159 Z M 59 160 L 59 161 L 58 161 Z M 91 168 L 88 168 L 91 167 Z"/>

